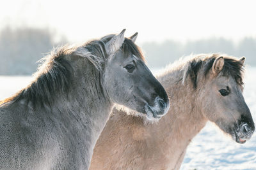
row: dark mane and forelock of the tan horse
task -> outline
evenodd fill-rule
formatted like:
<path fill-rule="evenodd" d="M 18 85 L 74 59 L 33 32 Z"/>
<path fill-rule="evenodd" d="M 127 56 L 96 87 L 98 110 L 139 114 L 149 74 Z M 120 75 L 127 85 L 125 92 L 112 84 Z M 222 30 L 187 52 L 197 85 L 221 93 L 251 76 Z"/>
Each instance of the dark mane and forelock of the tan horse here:
<path fill-rule="evenodd" d="M 182 78 L 182 83 L 189 76 L 193 83 L 194 89 L 197 87 L 198 72 L 201 71 L 206 77 L 212 68 L 214 60 L 217 57 L 223 56 L 224 66 L 219 74 L 223 76 L 231 76 L 236 80 L 239 85 L 243 85 L 243 71 L 244 66 L 236 58 L 227 55 L 220 55 L 218 53 L 213 53 L 211 55 L 197 55 L 188 61 L 188 63 L 183 67 L 184 76 Z"/>

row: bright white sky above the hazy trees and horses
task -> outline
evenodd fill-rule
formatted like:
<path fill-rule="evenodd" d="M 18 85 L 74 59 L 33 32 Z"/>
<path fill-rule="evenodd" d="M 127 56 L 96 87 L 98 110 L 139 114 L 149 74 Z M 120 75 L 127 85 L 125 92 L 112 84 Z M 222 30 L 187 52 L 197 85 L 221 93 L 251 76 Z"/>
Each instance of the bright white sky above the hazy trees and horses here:
<path fill-rule="evenodd" d="M 256 1 L 0 0 L 0 29 L 38 27 L 84 42 L 127 29 L 138 42 L 256 38 Z"/>

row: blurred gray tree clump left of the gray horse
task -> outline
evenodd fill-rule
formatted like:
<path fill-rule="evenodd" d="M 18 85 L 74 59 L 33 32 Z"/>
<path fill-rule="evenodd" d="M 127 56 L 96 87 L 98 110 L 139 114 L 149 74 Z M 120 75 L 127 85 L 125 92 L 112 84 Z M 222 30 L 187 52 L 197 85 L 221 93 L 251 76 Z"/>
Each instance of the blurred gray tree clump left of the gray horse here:
<path fill-rule="evenodd" d="M 53 46 L 54 36 L 49 29 L 4 28 L 0 32 L 0 74 L 32 74 L 38 61 Z"/>

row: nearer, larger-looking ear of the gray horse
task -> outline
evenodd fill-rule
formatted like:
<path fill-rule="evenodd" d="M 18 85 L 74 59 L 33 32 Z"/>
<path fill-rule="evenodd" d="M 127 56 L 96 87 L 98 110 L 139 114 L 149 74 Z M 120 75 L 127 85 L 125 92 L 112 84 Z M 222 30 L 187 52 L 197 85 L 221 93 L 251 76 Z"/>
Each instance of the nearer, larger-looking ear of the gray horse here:
<path fill-rule="evenodd" d="M 119 48 L 121 48 L 124 43 L 124 32 L 125 29 L 123 29 L 120 34 L 113 36 L 113 38 L 111 38 L 108 43 L 106 43 L 106 52 L 108 55 L 115 53 L 117 50 L 119 50 Z"/>

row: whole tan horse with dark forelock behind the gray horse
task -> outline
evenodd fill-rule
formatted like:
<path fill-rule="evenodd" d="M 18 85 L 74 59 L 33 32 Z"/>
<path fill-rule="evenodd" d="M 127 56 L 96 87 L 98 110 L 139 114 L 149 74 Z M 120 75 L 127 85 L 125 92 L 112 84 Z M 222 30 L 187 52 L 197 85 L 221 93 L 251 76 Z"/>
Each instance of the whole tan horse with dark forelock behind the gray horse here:
<path fill-rule="evenodd" d="M 171 99 L 168 114 L 158 124 L 145 124 L 114 110 L 90 169 L 179 169 L 191 139 L 208 120 L 245 143 L 255 127 L 242 94 L 244 59 L 199 55 L 165 69 L 158 80 Z"/>

